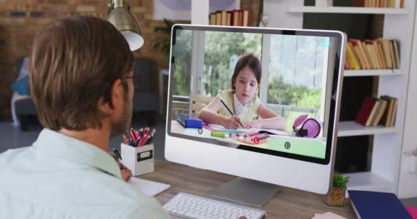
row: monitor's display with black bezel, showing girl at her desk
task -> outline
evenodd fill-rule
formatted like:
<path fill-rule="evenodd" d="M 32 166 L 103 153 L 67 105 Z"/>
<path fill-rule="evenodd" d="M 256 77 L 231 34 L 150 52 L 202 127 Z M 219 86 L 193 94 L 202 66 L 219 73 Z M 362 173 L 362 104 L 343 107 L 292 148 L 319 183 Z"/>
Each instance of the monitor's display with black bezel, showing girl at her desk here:
<path fill-rule="evenodd" d="M 342 35 L 176 25 L 167 134 L 329 164 Z"/>

